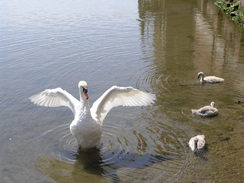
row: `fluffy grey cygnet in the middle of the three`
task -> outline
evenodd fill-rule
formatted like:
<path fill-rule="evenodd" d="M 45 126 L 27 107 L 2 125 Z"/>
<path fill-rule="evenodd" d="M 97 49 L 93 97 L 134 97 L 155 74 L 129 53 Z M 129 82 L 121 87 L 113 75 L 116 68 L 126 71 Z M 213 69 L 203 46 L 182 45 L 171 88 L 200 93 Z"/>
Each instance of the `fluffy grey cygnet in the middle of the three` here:
<path fill-rule="evenodd" d="M 211 102 L 210 105 L 201 107 L 200 109 L 192 109 L 192 114 L 201 117 L 213 117 L 218 115 L 218 109 L 215 107 L 215 103 Z"/>

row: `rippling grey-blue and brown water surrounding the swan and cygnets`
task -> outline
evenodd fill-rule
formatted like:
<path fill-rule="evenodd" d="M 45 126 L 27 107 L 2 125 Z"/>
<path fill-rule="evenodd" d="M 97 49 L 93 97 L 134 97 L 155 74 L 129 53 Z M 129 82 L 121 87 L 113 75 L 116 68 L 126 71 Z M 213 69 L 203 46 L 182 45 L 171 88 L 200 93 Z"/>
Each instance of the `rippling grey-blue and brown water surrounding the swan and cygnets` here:
<path fill-rule="evenodd" d="M 244 33 L 207 0 L 0 2 L 1 182 L 241 182 Z M 223 84 L 200 85 L 197 73 Z M 90 102 L 112 85 L 157 95 L 152 107 L 116 108 L 101 145 L 78 151 L 72 113 L 28 97 L 62 87 Z M 192 108 L 214 101 L 220 115 Z M 239 104 L 238 104 L 239 103 Z M 187 146 L 205 134 L 199 156 Z"/>

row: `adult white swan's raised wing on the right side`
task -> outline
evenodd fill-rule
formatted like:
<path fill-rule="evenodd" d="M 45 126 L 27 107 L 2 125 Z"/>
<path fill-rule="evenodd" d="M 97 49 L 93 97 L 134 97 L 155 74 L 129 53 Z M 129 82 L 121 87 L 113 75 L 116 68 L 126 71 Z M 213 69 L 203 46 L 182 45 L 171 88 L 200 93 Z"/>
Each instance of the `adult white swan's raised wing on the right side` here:
<path fill-rule="evenodd" d="M 155 95 L 133 87 L 112 86 L 91 107 L 91 116 L 102 122 L 108 112 L 117 106 L 147 106 L 154 102 Z"/>

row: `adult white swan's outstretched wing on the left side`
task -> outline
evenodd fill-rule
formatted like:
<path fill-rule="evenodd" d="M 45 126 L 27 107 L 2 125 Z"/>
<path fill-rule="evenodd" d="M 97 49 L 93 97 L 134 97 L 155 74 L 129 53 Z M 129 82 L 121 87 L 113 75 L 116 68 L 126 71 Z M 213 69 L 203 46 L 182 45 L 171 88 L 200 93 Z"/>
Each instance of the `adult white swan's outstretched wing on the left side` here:
<path fill-rule="evenodd" d="M 69 107 L 75 114 L 75 106 L 80 102 L 62 88 L 46 89 L 29 98 L 34 104 L 45 107 Z"/>

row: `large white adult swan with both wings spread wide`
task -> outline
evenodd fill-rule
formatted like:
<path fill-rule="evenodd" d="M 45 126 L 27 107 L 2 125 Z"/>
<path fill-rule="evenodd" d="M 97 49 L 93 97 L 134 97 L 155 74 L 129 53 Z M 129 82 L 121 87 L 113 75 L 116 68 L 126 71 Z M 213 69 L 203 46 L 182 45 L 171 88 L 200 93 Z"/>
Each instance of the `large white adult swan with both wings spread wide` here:
<path fill-rule="evenodd" d="M 31 96 L 30 100 L 40 106 L 69 107 L 74 114 L 70 132 L 77 139 L 79 146 L 85 149 L 99 145 L 103 120 L 113 107 L 146 106 L 155 100 L 154 94 L 133 87 L 112 86 L 90 108 L 86 81 L 80 81 L 78 87 L 80 101 L 61 88 L 46 89 Z"/>

